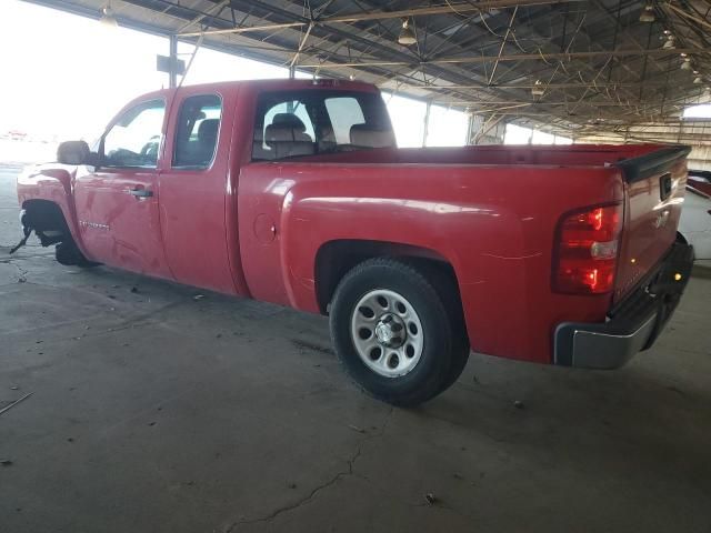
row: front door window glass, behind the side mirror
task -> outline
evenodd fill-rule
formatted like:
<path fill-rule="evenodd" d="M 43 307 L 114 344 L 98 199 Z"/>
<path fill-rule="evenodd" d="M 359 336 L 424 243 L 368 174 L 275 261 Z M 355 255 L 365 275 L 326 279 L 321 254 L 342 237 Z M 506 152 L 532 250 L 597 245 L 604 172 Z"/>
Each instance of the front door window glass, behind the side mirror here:
<path fill-rule="evenodd" d="M 103 137 L 103 167 L 154 169 L 166 102 L 151 100 L 129 109 Z"/>

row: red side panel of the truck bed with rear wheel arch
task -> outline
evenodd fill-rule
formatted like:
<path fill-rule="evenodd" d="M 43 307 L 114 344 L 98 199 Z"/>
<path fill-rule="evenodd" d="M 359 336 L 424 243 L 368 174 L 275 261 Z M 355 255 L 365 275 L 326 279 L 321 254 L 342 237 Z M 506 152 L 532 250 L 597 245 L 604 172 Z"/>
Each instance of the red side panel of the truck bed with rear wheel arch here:
<path fill-rule="evenodd" d="M 552 293 L 551 257 L 561 213 L 623 200 L 615 169 L 253 163 L 239 187 L 242 258 L 257 299 L 318 312 L 319 249 L 378 240 L 432 251 L 454 268 L 479 352 L 550 362 L 557 323 L 601 321 L 610 306 L 610 294 Z"/>

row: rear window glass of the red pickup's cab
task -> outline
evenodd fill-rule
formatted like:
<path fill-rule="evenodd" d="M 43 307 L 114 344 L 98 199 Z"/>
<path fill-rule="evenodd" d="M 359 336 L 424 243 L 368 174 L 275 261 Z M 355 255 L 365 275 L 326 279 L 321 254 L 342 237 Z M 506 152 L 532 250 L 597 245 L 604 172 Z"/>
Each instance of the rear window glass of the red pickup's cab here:
<path fill-rule="evenodd" d="M 385 104 L 357 91 L 266 92 L 254 120 L 252 160 L 394 148 Z"/>

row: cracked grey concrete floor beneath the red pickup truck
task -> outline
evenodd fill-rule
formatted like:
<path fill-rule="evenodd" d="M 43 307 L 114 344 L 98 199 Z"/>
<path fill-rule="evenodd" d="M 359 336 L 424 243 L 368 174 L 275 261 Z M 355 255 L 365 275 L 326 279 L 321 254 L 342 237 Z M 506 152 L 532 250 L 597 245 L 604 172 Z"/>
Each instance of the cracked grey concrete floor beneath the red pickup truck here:
<path fill-rule="evenodd" d="M 3 533 L 711 531 L 711 279 L 623 370 L 472 355 L 393 410 L 343 375 L 322 318 L 37 245 L 8 259 L 13 175 L 0 408 L 34 394 L 0 415 Z"/>

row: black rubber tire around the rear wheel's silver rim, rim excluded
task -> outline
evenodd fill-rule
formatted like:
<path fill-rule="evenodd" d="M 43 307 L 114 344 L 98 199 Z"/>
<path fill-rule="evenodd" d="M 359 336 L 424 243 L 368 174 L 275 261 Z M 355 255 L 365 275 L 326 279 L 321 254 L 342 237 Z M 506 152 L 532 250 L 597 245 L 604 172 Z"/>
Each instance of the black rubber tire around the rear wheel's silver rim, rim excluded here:
<path fill-rule="evenodd" d="M 343 276 L 331 302 L 331 338 L 341 363 L 365 392 L 399 406 L 414 406 L 443 392 L 459 378 L 469 356 L 469 344 L 459 330 L 462 321 L 451 309 L 458 299 L 442 294 L 448 292 L 444 285 L 425 272 L 404 261 L 371 259 Z M 401 295 L 421 323 L 419 359 L 403 375 L 384 376 L 372 370 L 359 355 L 351 333 L 351 320 L 359 312 L 356 306 L 379 290 Z"/>

